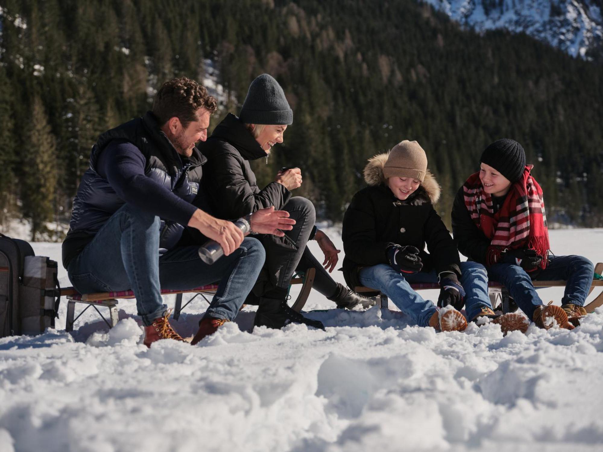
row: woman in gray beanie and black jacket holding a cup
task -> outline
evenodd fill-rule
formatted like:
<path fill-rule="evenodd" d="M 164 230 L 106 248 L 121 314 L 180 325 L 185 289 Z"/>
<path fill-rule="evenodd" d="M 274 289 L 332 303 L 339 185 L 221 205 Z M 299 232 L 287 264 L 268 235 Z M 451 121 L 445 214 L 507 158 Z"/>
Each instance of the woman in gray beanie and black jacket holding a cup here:
<path fill-rule="evenodd" d="M 259 236 L 267 259 L 251 300 L 248 298 L 246 303 L 259 304 L 255 325 L 274 328 L 282 327 L 286 319 L 310 322 L 292 312 L 286 304 L 289 281 L 296 269 L 314 267 L 314 289 L 335 301 L 338 307 L 351 309 L 357 304 L 366 307 L 374 303 L 335 283 L 326 271 L 335 268 L 339 250 L 315 226 L 312 202 L 300 196 L 291 197 L 291 191 L 302 183 L 300 169 L 279 171 L 274 182 L 264 189 L 257 186 L 249 161 L 268 158 L 272 146 L 283 142 L 283 133 L 292 122 L 293 112 L 283 89 L 273 77 L 262 74 L 251 83 L 239 118 L 229 114 L 200 146 L 208 160 L 204 167 L 204 187 L 210 195 L 210 211 L 218 218 L 239 218 L 274 206 L 277 210 L 287 210 L 297 222 L 292 231 L 286 231 L 285 237 L 275 240 L 268 235 Z M 306 246 L 312 239 L 317 240 L 324 253 L 325 268 Z M 322 327 L 320 322 L 313 324 Z"/>

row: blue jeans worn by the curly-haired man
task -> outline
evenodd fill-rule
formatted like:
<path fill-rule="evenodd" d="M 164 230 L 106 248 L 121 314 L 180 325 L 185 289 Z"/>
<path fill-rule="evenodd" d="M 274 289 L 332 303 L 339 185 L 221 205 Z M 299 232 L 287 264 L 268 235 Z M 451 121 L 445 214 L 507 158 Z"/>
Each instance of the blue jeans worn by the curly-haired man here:
<path fill-rule="evenodd" d="M 160 289 L 188 290 L 218 283 L 206 316 L 232 320 L 264 265 L 264 247 L 245 237 L 230 256 L 204 263 L 198 246 L 181 246 L 159 256 L 159 217 L 125 204 L 68 266 L 80 293 L 131 289 L 145 325 L 165 315 Z"/>

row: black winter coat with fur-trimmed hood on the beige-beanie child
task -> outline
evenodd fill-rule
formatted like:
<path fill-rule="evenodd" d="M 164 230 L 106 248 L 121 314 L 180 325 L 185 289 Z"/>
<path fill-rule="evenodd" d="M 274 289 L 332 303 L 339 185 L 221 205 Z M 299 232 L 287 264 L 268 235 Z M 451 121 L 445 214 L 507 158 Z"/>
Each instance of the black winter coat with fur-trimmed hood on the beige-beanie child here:
<path fill-rule="evenodd" d="M 350 287 L 361 286 L 358 269 L 388 263 L 390 243 L 421 250 L 423 270 L 460 275 L 459 257 L 449 231 L 432 203 L 440 198 L 440 186 L 431 173 L 408 199 L 397 199 L 383 175 L 387 154 L 376 155 L 364 169 L 368 187 L 352 198 L 343 219 L 344 277 Z M 425 252 L 425 245 L 429 254 Z"/>

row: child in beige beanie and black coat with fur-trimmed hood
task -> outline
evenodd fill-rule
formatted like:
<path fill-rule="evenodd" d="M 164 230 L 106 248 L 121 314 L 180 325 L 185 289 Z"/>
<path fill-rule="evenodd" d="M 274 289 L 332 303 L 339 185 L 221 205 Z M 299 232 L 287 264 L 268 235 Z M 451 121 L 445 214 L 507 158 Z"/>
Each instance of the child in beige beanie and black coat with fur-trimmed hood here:
<path fill-rule="evenodd" d="M 343 221 L 344 275 L 350 287 L 363 285 L 385 293 L 414 324 L 462 331 L 492 309 L 484 266 L 460 262 L 449 231 L 435 212 L 440 186 L 427 169 L 416 142 L 404 140 L 389 154 L 376 155 L 364 168 L 368 187 L 354 195 Z M 429 254 L 423 251 L 425 245 Z M 438 282 L 439 310 L 411 283 Z M 493 321 L 502 330 L 520 329 L 517 315 Z"/>

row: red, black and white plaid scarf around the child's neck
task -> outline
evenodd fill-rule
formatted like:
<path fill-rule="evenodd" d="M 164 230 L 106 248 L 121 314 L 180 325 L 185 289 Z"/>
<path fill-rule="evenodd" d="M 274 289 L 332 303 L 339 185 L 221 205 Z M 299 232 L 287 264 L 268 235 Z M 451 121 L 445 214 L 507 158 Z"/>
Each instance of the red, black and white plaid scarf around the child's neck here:
<path fill-rule="evenodd" d="M 545 268 L 549 252 L 549 231 L 546 227 L 545 201 L 542 189 L 526 165 L 519 181 L 511 185 L 507 198 L 494 213 L 492 198 L 484 192 L 479 172 L 463 184 L 465 206 L 471 219 L 491 240 L 486 256 L 488 265 L 497 263 L 503 251 L 529 248 L 541 256 Z"/>

